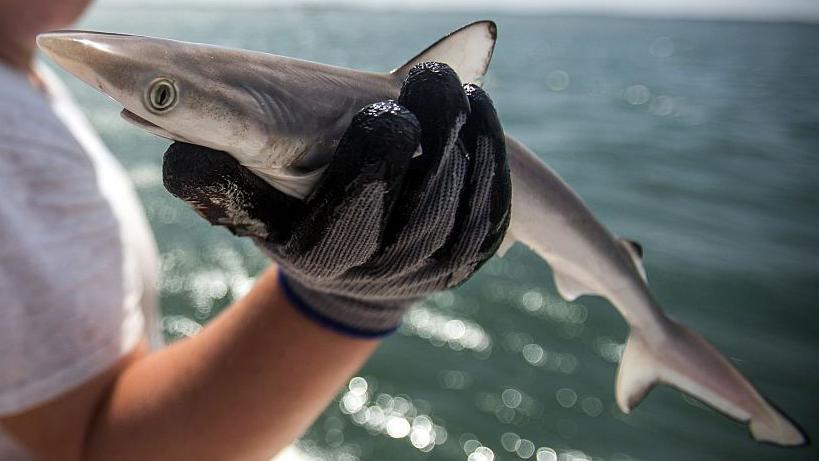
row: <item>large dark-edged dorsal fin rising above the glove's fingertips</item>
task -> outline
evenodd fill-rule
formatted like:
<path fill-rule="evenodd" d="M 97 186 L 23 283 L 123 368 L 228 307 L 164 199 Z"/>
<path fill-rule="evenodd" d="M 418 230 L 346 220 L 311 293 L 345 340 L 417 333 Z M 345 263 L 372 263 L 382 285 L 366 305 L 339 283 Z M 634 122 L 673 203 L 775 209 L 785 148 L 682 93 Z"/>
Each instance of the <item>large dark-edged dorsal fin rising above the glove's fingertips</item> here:
<path fill-rule="evenodd" d="M 455 69 L 461 82 L 477 84 L 492 60 L 497 31 L 497 26 L 492 21 L 467 24 L 442 37 L 390 74 L 403 81 L 412 66 L 421 62 L 436 61 Z"/>

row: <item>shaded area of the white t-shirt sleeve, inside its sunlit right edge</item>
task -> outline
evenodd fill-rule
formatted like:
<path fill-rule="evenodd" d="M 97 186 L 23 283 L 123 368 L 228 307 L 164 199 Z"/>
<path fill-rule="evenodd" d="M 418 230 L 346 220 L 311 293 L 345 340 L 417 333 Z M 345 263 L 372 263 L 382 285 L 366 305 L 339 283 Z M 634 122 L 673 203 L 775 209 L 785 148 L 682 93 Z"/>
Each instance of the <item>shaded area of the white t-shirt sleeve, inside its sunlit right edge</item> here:
<path fill-rule="evenodd" d="M 119 222 L 83 149 L 36 92 L 0 91 L 0 105 L 0 415 L 9 415 L 106 370 L 139 341 L 143 317 L 129 299 Z"/>

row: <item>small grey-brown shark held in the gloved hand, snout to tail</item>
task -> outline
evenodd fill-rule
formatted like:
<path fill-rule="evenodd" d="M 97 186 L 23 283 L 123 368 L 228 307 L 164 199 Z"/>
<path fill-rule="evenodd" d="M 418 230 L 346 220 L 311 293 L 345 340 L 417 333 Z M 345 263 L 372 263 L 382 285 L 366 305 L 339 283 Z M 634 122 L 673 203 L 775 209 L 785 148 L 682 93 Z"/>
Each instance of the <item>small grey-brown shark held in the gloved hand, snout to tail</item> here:
<path fill-rule="evenodd" d="M 496 37 L 491 21 L 469 24 L 389 73 L 100 32 L 50 32 L 37 43 L 65 70 L 121 104 L 129 122 L 167 139 L 225 151 L 273 187 L 304 198 L 358 110 L 396 99 L 420 62 L 446 63 L 463 82 L 478 82 Z M 747 422 L 756 440 L 807 442 L 711 344 L 663 313 L 648 290 L 638 244 L 613 236 L 520 142 L 507 137 L 506 147 L 512 220 L 500 253 L 523 243 L 551 266 L 563 298 L 602 296 L 623 315 L 630 335 L 615 387 L 622 411 L 663 383 Z"/>

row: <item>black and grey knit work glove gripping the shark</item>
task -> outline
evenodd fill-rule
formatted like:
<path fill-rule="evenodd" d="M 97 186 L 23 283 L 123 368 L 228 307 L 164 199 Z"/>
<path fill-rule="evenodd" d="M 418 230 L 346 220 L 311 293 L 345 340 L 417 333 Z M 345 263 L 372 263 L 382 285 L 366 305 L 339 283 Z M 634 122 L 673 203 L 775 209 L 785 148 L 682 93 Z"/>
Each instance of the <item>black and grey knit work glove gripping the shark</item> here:
<path fill-rule="evenodd" d="M 393 331 L 413 302 L 466 280 L 509 225 L 492 101 L 438 63 L 413 68 L 398 102 L 354 117 L 305 201 L 223 152 L 179 142 L 165 153 L 163 177 L 205 219 L 253 237 L 280 265 L 297 308 L 364 337 Z"/>

